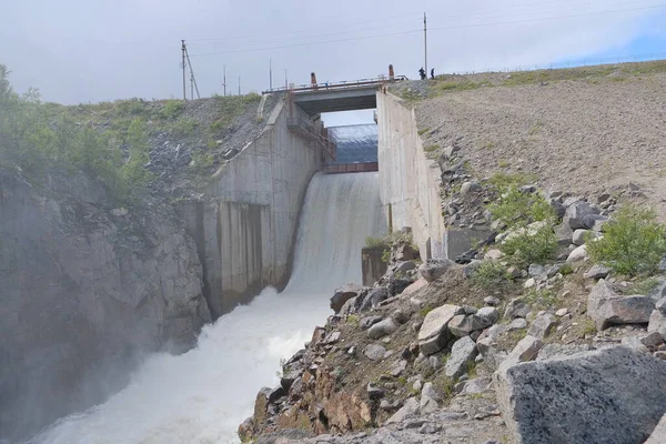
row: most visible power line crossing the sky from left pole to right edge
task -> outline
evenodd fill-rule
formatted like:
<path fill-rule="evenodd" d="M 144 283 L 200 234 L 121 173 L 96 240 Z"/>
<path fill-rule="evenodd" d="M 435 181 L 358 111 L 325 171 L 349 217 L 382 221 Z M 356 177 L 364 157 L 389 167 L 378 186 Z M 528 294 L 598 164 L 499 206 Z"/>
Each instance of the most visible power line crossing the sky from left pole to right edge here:
<path fill-rule="evenodd" d="M 566 14 L 566 16 L 542 17 L 542 18 L 522 19 L 522 20 L 507 20 L 507 21 L 497 21 L 497 22 L 487 22 L 487 23 L 470 23 L 470 24 L 458 24 L 458 26 L 450 26 L 450 27 L 438 27 L 438 28 L 430 28 L 430 30 L 431 31 L 442 31 L 442 30 L 465 29 L 465 28 L 484 28 L 484 27 L 493 27 L 493 26 L 502 26 L 502 24 L 516 24 L 516 23 L 527 23 L 527 22 L 535 22 L 535 21 L 569 19 L 569 18 L 576 18 L 576 17 L 599 16 L 599 14 L 614 13 L 614 12 L 639 11 L 639 10 L 657 9 L 657 8 L 664 8 L 664 7 L 666 7 L 666 4 L 654 4 L 654 6 L 647 6 L 647 7 L 640 7 L 640 8 L 614 9 L 614 10 L 606 10 L 606 11 L 594 11 L 594 12 L 587 12 L 587 13 L 576 13 L 576 14 Z M 341 43 L 341 42 L 349 42 L 349 41 L 376 39 L 376 38 L 382 38 L 382 37 L 405 36 L 405 34 L 411 34 L 411 33 L 416 33 L 416 32 L 422 32 L 422 31 L 423 31 L 422 29 L 412 29 L 412 30 L 407 30 L 407 31 L 353 37 L 353 38 L 346 38 L 346 39 L 326 40 L 326 41 L 320 41 L 320 42 L 303 42 L 303 43 L 252 48 L 252 49 L 242 49 L 242 50 L 215 51 L 215 52 L 209 52 L 209 53 L 192 54 L 192 57 L 208 57 L 208 56 L 218 56 L 218 54 L 231 54 L 231 53 L 255 52 L 255 51 L 265 51 L 265 50 L 274 50 L 274 49 L 309 47 L 309 46 L 313 46 L 313 44 Z"/>

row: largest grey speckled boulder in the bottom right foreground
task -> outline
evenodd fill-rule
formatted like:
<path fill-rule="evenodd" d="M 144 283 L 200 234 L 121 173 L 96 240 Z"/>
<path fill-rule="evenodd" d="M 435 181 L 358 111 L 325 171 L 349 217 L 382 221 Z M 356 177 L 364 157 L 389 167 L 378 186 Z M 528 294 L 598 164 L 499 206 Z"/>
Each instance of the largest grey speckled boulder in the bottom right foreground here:
<path fill-rule="evenodd" d="M 666 362 L 615 346 L 502 367 L 494 376 L 517 444 L 637 444 L 666 412 Z"/>

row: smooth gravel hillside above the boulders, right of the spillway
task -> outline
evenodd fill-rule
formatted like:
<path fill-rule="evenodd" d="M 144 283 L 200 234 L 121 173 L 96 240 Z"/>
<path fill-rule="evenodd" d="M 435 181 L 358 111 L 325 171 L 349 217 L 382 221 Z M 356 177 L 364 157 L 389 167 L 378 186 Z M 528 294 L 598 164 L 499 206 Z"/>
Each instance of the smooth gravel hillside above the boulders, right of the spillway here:
<path fill-rule="evenodd" d="M 415 98 L 424 145 L 460 148 L 475 175 L 534 173 L 581 195 L 632 184 L 666 215 L 666 61 L 418 83 L 398 92 Z"/>

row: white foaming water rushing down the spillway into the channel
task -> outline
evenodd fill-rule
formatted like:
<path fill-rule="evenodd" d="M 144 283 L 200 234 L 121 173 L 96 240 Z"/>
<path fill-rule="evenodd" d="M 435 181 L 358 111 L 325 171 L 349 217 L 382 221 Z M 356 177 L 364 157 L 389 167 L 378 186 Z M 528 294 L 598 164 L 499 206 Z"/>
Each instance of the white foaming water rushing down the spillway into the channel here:
<path fill-rule="evenodd" d="M 361 283 L 361 248 L 384 229 L 376 173 L 313 178 L 286 289 L 208 325 L 198 346 L 152 355 L 104 404 L 58 421 L 31 443 L 235 443 L 256 392 L 275 386 L 280 360 L 310 340 L 331 314 L 329 297 Z"/>

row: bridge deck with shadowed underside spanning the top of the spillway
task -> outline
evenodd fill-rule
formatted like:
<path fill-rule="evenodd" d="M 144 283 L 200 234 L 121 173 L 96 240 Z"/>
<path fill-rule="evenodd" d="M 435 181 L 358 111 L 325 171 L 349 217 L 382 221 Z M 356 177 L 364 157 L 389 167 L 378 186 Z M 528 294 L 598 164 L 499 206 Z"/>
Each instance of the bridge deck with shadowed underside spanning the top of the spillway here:
<path fill-rule="evenodd" d="M 309 115 L 322 112 L 372 110 L 377 107 L 377 85 L 326 90 L 323 85 L 314 91 L 295 92 L 296 103 Z"/>

